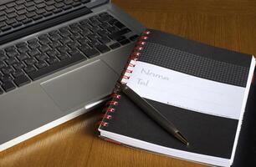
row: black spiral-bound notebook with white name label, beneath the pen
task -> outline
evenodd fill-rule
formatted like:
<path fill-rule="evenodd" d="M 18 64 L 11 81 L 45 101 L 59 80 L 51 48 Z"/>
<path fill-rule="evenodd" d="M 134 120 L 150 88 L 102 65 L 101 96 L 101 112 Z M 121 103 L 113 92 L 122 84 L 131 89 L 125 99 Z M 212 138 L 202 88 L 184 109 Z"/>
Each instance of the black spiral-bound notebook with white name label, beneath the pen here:
<path fill-rule="evenodd" d="M 253 79 L 253 55 L 148 29 L 118 82 L 146 99 L 188 139 L 168 134 L 115 87 L 100 137 L 203 164 L 233 164 Z"/>

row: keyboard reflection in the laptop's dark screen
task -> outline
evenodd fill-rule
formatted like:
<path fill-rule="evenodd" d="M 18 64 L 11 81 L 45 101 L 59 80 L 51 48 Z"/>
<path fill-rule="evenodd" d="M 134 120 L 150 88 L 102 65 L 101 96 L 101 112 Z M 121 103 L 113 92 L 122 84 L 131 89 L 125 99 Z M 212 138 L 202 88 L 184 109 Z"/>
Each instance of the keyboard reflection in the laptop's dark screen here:
<path fill-rule="evenodd" d="M 0 36 L 85 7 L 90 0 L 18 0 L 0 5 Z"/>

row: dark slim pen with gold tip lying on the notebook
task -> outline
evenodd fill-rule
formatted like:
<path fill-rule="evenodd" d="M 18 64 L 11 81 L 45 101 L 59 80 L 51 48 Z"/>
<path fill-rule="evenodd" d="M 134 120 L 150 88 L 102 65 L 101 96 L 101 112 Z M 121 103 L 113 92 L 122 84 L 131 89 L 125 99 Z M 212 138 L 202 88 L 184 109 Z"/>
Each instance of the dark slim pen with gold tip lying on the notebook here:
<path fill-rule="evenodd" d="M 170 122 L 166 117 L 164 117 L 156 108 L 149 104 L 145 99 L 141 98 L 139 94 L 136 94 L 127 85 L 120 83 L 121 91 L 128 96 L 131 101 L 137 104 L 151 119 L 155 120 L 161 128 L 165 129 L 168 133 L 172 134 L 174 137 L 179 139 L 183 144 L 188 145 L 187 139 L 181 134 L 181 132 L 175 127 L 172 122 Z"/>

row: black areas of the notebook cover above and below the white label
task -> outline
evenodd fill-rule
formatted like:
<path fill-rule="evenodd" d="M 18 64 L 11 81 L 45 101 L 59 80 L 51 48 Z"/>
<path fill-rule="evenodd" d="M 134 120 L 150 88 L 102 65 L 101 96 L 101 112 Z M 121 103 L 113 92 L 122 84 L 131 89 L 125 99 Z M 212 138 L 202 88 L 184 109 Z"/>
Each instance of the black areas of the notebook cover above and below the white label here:
<path fill-rule="evenodd" d="M 149 38 L 138 58 L 199 78 L 246 87 L 252 56 L 223 48 L 214 48 L 172 34 L 150 30 Z M 143 37 L 143 36 L 142 36 Z M 100 129 L 140 139 L 167 148 L 231 159 L 238 119 L 203 114 L 147 99 L 172 121 L 190 142 L 187 147 L 166 133 L 130 99 L 121 95 L 108 126 Z"/>

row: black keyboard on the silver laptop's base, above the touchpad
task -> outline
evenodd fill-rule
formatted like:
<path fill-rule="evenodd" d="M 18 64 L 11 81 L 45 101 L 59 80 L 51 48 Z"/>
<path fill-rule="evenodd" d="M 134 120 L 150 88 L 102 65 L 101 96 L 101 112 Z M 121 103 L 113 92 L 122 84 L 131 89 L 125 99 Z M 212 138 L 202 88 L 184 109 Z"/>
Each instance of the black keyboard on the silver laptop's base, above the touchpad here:
<path fill-rule="evenodd" d="M 0 94 L 119 48 L 137 37 L 109 13 L 100 13 L 28 41 L 1 48 Z"/>

